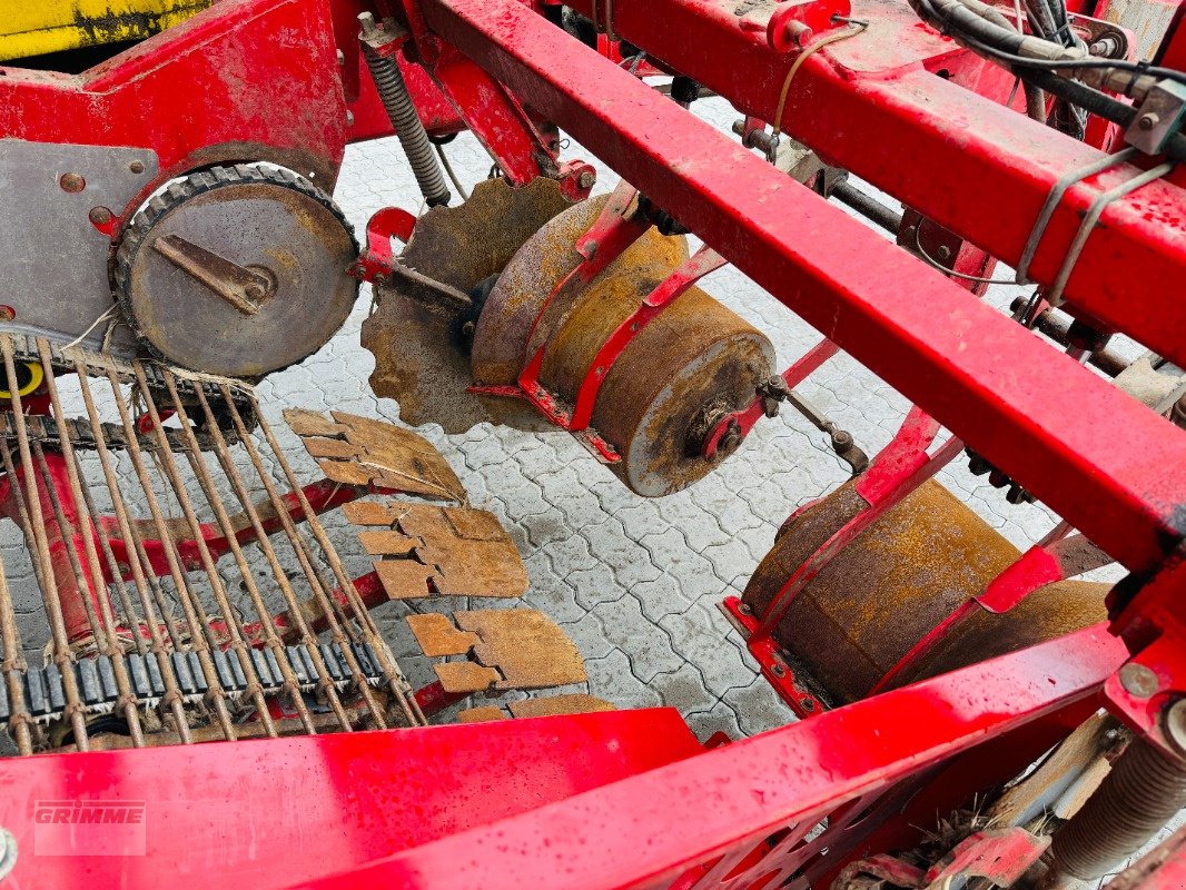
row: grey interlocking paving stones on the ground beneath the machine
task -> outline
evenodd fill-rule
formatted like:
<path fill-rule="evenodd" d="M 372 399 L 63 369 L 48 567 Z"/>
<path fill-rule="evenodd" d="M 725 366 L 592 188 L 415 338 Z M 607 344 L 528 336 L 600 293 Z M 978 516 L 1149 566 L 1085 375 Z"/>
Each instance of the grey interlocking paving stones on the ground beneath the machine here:
<path fill-rule="evenodd" d="M 697 112 L 722 129 L 735 116 L 715 100 L 697 103 Z M 490 159 L 468 134 L 447 151 L 465 182 L 487 174 Z M 568 154 L 595 160 L 576 146 Z M 608 190 L 616 179 L 599 170 L 598 190 Z M 349 148 L 336 197 L 359 233 L 382 206 L 422 209 L 394 140 Z M 704 288 L 766 331 L 783 365 L 818 339 L 737 269 L 713 274 Z M 1006 305 L 1019 293 L 1015 287 L 994 287 L 988 299 Z M 359 325 L 369 309 L 364 287 L 356 311 L 331 343 L 260 386 L 260 401 L 273 421 L 279 425 L 285 407 L 398 420 L 398 406 L 377 399 L 368 387 L 374 357 L 359 345 Z M 802 392 L 871 454 L 890 441 L 908 407 L 900 394 L 847 356 L 824 365 Z M 631 494 L 561 432 L 531 434 L 490 425 L 461 436 L 445 436 L 433 425 L 420 432 L 441 449 L 473 502 L 493 510 L 511 532 L 531 579 L 528 603 L 553 616 L 576 641 L 593 694 L 623 707 L 677 707 L 702 738 L 721 730 L 734 737 L 755 733 L 793 719 L 759 678 L 716 606 L 741 590 L 773 542 L 774 530 L 796 507 L 847 478 L 846 466 L 805 420 L 785 412 L 759 424 L 713 476 L 657 501 Z M 304 458 L 295 437 L 286 430 L 281 436 Z M 311 462 L 300 458 L 294 463 L 312 479 Z M 940 479 L 1019 547 L 1054 525 L 1041 506 L 1006 503 L 1001 491 L 970 476 L 962 464 L 944 471 Z M 327 526 L 347 571 L 365 572 L 368 559 L 352 532 L 340 520 Z M 9 583 L 18 590 L 19 621 L 31 622 L 36 586 L 11 526 L 0 545 Z M 425 681 L 431 678 L 429 665 L 412 655 L 404 615 L 403 606 L 391 605 L 380 610 L 378 619 L 410 679 Z"/>

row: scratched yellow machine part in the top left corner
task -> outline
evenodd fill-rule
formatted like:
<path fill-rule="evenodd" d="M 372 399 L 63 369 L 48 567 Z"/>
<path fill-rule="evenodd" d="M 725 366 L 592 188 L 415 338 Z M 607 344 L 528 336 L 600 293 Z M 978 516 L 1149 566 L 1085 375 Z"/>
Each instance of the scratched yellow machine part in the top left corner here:
<path fill-rule="evenodd" d="M 0 0 L 0 61 L 142 40 L 210 6 L 211 0 Z"/>

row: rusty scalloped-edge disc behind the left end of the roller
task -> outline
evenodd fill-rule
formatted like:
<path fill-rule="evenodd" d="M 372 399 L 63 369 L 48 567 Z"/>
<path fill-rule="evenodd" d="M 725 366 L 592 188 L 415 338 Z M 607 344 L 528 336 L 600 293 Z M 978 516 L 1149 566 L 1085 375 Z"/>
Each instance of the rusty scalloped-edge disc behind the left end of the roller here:
<path fill-rule="evenodd" d="M 502 272 L 523 242 L 567 206 L 555 180 L 538 178 L 516 189 L 504 179 L 487 179 L 465 203 L 425 214 L 400 261 L 468 293 Z M 473 383 L 465 347 L 468 335 L 460 329 L 474 322 L 476 312 L 470 318 L 461 307 L 426 303 L 398 276 L 377 285 L 375 293 L 376 309 L 363 323 L 362 335 L 363 347 L 375 354 L 370 383 L 377 395 L 400 402 L 401 419 L 413 425 L 439 422 L 451 433 L 508 412 L 530 422 L 531 412 L 523 406 L 467 392 Z"/>

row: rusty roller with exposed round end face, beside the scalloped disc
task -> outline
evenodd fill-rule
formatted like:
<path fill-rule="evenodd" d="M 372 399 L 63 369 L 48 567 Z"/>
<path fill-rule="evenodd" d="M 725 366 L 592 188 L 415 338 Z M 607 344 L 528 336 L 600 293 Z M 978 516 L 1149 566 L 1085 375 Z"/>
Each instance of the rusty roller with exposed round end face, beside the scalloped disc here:
<path fill-rule="evenodd" d="M 651 229 L 587 288 L 553 300 L 540 317 L 580 262 L 574 244 L 606 201 L 591 198 L 566 210 L 508 263 L 474 331 L 477 383 L 515 383 L 542 345 L 540 382 L 572 405 L 601 344 L 687 259 L 682 237 Z M 696 482 L 715 465 L 701 456 L 706 425 L 745 407 L 773 362 L 773 347 L 763 333 L 700 288 L 689 288 L 638 332 L 605 374 L 592 427 L 621 456 L 611 469 L 646 497 Z"/>

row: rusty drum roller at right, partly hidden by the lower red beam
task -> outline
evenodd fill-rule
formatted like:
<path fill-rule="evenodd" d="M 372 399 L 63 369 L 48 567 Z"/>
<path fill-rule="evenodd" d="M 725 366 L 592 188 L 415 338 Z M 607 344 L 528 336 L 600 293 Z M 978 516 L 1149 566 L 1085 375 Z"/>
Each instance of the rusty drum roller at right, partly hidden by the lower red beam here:
<path fill-rule="evenodd" d="M 865 501 L 848 483 L 793 517 L 742 602 L 761 616 L 786 579 Z M 791 603 L 774 631 L 797 675 L 830 705 L 869 694 L 932 628 L 1020 557 L 933 479 L 857 536 Z M 1034 646 L 1105 618 L 1109 585 L 1048 584 L 1003 615 L 977 611 L 894 686 Z M 798 674 L 802 672 L 802 674 Z"/>

